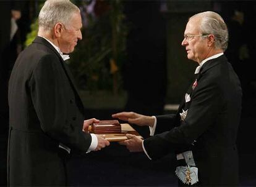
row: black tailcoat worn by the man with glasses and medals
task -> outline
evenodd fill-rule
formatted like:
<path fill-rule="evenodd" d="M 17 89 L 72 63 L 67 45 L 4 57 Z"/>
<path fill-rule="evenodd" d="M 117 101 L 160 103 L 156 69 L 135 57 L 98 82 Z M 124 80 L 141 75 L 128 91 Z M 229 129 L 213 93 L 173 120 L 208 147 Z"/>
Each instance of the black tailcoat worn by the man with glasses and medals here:
<path fill-rule="evenodd" d="M 176 115 L 157 116 L 158 134 L 144 141 L 148 155 L 156 159 L 173 151 L 181 153 L 194 144 L 190 149 L 200 185 L 237 186 L 236 137 L 242 90 L 224 55 L 203 64 L 190 98 L 184 121 L 179 116 L 184 101 Z"/>

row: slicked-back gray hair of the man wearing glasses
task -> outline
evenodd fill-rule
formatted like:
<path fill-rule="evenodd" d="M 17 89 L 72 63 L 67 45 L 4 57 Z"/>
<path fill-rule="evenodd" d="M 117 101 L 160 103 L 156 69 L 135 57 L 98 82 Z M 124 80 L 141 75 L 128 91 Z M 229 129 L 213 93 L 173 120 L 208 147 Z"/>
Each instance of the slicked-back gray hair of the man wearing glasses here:
<path fill-rule="evenodd" d="M 191 18 L 200 17 L 201 24 L 199 30 L 202 34 L 213 34 L 215 36 L 216 49 L 225 51 L 228 48 L 228 28 L 223 18 L 216 12 L 201 12 Z"/>

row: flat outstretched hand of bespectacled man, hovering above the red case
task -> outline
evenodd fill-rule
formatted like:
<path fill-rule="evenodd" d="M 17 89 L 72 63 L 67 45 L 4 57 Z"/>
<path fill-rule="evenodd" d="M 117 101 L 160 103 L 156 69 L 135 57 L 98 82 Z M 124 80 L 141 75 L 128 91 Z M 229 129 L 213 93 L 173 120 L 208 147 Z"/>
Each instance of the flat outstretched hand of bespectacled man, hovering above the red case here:
<path fill-rule="evenodd" d="M 112 114 L 112 117 L 121 119 L 122 121 L 128 121 L 130 124 L 135 124 L 139 126 L 153 127 L 155 122 L 154 117 L 144 116 L 142 114 L 137 114 L 134 112 L 122 112 L 122 113 Z"/>

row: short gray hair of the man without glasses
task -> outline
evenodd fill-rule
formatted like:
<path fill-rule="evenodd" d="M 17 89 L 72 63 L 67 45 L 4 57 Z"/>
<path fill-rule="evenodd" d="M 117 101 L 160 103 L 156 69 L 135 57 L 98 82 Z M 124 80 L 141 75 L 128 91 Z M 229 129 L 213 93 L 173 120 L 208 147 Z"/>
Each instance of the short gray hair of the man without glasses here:
<path fill-rule="evenodd" d="M 47 0 L 38 16 L 39 28 L 49 31 L 56 23 L 68 25 L 75 12 L 80 10 L 69 0 Z"/>

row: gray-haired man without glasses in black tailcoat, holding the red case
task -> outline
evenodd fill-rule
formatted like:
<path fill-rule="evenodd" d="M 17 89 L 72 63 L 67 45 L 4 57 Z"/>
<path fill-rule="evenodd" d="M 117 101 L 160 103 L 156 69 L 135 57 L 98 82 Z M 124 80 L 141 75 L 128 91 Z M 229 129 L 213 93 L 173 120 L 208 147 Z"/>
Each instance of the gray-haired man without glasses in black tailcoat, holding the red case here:
<path fill-rule="evenodd" d="M 69 0 L 48 0 L 38 36 L 17 58 L 9 81 L 9 186 L 65 186 L 72 154 L 109 145 L 90 134 L 65 60 L 82 39 L 80 10 Z"/>

